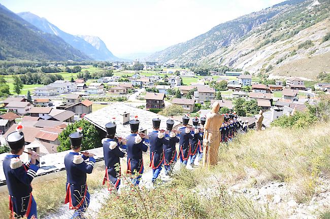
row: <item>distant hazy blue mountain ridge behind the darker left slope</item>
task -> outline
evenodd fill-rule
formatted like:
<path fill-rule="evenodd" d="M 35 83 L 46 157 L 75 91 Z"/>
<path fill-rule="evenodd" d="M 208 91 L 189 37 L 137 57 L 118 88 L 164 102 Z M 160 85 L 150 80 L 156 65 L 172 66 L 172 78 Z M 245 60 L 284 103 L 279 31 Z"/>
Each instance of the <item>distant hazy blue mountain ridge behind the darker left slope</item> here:
<path fill-rule="evenodd" d="M 118 59 L 107 49 L 107 46 L 104 44 L 104 42 L 97 36 L 96 37 L 98 38 L 98 40 L 102 42 L 100 43 L 102 45 L 102 49 L 94 47 L 92 44 L 85 41 L 79 35 L 72 35 L 70 33 L 64 32 L 56 25 L 50 23 L 46 18 L 41 18 L 31 12 L 20 12 L 17 15 L 19 15 L 21 18 L 31 23 L 32 25 L 35 25 L 39 29 L 43 30 L 44 32 L 59 36 L 72 47 L 80 50 L 81 52 L 85 53 L 86 55 L 95 60 L 105 61 Z"/>

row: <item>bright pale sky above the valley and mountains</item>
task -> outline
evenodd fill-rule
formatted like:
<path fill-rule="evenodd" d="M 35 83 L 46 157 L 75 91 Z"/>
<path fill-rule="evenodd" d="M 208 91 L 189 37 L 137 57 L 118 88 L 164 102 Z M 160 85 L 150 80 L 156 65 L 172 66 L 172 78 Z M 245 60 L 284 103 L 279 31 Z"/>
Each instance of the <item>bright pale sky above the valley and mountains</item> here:
<path fill-rule="evenodd" d="M 0 0 L 71 34 L 99 36 L 118 57 L 154 52 L 284 0 Z"/>

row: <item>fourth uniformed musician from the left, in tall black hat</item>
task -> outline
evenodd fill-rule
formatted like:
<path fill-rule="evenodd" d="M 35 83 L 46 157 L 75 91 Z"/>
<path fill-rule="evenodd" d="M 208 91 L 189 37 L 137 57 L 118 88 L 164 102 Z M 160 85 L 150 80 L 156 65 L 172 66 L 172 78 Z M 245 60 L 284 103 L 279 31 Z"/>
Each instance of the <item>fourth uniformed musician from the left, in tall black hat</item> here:
<path fill-rule="evenodd" d="M 132 179 L 132 183 L 135 186 L 139 185 L 141 174 L 143 173 L 142 152 L 147 152 L 149 147 L 148 135 L 138 133 L 139 124 L 138 116 L 135 117 L 135 120 L 130 120 L 131 134 L 126 137 L 127 173 L 139 174 Z"/>

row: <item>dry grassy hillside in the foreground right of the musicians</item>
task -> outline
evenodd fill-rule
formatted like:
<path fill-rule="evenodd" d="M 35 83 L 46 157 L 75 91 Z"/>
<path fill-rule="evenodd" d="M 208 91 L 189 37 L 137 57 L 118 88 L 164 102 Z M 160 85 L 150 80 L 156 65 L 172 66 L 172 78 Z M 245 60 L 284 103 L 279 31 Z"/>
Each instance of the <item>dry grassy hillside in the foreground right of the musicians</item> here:
<path fill-rule="evenodd" d="M 308 205 L 320 193 L 321 179 L 330 176 L 329 161 L 330 123 L 250 131 L 220 145 L 214 168 L 183 168 L 170 184 L 122 190 L 109 198 L 98 218 L 287 218 L 292 214 L 288 201 Z M 289 191 L 278 204 L 247 195 L 274 182 Z M 319 208 L 313 215 L 328 210 Z"/>

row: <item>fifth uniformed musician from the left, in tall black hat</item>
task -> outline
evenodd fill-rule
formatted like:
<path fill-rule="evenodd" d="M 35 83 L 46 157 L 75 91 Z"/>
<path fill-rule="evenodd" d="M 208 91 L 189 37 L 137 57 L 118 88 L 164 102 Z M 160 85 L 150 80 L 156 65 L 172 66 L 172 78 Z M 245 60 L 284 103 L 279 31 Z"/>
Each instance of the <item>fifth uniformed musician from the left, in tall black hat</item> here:
<path fill-rule="evenodd" d="M 152 119 L 152 127 L 153 131 L 149 133 L 149 144 L 150 167 L 152 168 L 153 174 L 151 181 L 154 183 L 161 171 L 164 160 L 163 144 L 165 143 L 165 136 L 163 131 L 159 130 L 160 119 Z"/>

